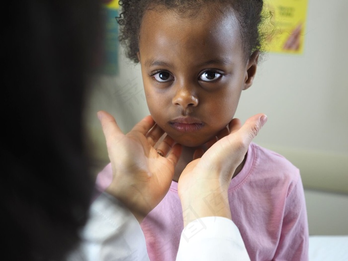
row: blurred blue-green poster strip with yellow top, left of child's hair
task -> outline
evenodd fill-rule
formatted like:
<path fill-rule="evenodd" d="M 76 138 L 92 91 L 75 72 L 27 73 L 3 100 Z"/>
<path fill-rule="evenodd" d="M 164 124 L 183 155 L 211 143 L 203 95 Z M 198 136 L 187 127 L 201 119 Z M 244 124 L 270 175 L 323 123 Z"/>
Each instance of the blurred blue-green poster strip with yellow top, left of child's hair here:
<path fill-rule="evenodd" d="M 105 17 L 105 38 L 102 73 L 118 75 L 118 0 L 103 0 Z"/>

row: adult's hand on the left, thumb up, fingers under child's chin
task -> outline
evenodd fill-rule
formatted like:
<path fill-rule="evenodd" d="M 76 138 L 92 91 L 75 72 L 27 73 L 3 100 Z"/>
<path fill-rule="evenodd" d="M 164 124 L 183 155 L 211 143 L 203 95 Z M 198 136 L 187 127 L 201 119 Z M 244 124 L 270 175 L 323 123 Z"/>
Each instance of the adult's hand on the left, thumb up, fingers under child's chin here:
<path fill-rule="evenodd" d="M 139 223 L 160 203 L 171 185 L 181 146 L 164 134 L 151 116 L 145 117 L 126 135 L 115 119 L 105 111 L 98 112 L 112 166 L 113 178 L 106 192 L 123 202 Z"/>

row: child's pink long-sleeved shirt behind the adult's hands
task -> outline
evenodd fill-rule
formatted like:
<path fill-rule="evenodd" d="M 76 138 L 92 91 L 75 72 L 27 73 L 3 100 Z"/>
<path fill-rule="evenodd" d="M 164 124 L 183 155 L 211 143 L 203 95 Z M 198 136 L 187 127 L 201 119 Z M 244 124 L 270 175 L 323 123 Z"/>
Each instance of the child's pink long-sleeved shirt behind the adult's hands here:
<path fill-rule="evenodd" d="M 308 260 L 304 191 L 299 170 L 289 161 L 252 143 L 246 163 L 231 180 L 228 193 L 232 220 L 252 261 Z M 204 222 L 200 227 L 188 231 L 184 238 L 189 240 L 200 233 Z M 183 230 L 176 182 L 172 181 L 168 194 L 144 219 L 141 228 L 151 261 L 175 260 Z"/>

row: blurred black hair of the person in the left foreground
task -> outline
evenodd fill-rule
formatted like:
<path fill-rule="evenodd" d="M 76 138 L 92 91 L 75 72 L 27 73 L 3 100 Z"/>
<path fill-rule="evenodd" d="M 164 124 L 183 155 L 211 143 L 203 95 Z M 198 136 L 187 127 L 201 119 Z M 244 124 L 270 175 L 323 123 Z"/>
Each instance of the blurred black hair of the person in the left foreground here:
<path fill-rule="evenodd" d="M 83 105 L 100 50 L 98 0 L 2 3 L 1 254 L 62 260 L 79 242 L 94 180 Z"/>

